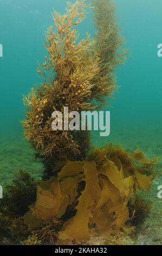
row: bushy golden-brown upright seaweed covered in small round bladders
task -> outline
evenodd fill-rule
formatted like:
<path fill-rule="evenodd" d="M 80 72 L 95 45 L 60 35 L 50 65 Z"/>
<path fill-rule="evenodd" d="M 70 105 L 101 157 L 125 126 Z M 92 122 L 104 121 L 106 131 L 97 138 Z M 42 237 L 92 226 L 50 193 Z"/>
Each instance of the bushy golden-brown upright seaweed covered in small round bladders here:
<path fill-rule="evenodd" d="M 99 13 L 98 4 L 95 7 L 96 13 Z M 115 88 L 112 71 L 118 63 L 116 51 L 120 39 L 116 32 L 107 39 L 103 34 L 102 49 L 107 48 L 107 45 L 110 48 L 108 51 L 105 48 L 102 56 L 99 44 L 102 26 L 99 26 L 98 21 L 96 39 L 90 39 L 87 34 L 86 39 L 79 41 L 76 28 L 85 19 L 88 7 L 86 2 L 81 0 L 69 4 L 64 15 L 54 12 L 54 26 L 49 27 L 46 33 L 45 47 L 48 56 L 44 57 L 45 62 L 39 65 L 37 70 L 42 75 L 43 83 L 36 89 L 31 89 L 31 93 L 23 99 L 27 106 L 27 118 L 23 121 L 25 137 L 41 156 L 48 157 L 47 163 L 51 157 L 53 160 L 85 160 L 89 150 L 89 138 L 86 133 L 86 139 L 83 139 L 82 134 L 81 143 L 79 132 L 54 132 L 51 129 L 51 113 L 63 112 L 65 106 L 69 107 L 69 112 L 98 108 Z M 107 7 L 109 8 L 109 5 Z M 112 9 L 108 11 L 112 13 Z M 104 12 L 102 19 L 114 29 L 113 15 L 107 18 Z"/>

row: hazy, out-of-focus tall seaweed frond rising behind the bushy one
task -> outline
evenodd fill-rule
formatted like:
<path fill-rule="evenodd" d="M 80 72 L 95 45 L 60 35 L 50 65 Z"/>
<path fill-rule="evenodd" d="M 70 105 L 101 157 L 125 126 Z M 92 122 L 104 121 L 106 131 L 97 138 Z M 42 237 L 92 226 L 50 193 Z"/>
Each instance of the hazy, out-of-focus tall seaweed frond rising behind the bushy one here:
<path fill-rule="evenodd" d="M 100 83 L 107 88 L 106 96 L 116 89 L 114 70 L 124 63 L 127 50 L 121 50 L 124 39 L 116 23 L 115 6 L 109 0 L 92 0 L 96 27 L 96 52 L 100 59 Z"/>

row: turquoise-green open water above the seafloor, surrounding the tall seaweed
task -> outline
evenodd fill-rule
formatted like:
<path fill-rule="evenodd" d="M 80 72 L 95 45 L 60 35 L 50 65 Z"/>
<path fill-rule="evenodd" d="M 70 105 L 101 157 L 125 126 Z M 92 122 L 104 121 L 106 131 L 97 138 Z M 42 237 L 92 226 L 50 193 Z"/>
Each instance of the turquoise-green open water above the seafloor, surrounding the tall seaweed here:
<path fill-rule="evenodd" d="M 157 45 L 161 42 L 162 3 L 160 0 L 115 3 L 118 24 L 130 55 L 116 72 L 121 88 L 110 109 L 111 133 L 116 127 L 161 129 L 162 58 L 157 57 Z M 45 53 L 44 32 L 52 22 L 53 7 L 63 13 L 65 6 L 64 0 L 0 1 L 1 138 L 8 137 L 8 132 L 15 135 L 21 129 L 22 95 L 40 82 L 36 68 L 37 60 L 42 62 Z M 90 13 L 79 26 L 81 37 L 87 31 L 94 34 Z"/>

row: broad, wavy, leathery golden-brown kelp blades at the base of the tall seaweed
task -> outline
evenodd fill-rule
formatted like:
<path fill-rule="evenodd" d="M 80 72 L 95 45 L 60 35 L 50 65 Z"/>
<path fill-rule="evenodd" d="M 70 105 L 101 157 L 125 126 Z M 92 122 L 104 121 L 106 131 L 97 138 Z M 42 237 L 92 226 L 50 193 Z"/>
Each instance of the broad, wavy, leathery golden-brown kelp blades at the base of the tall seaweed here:
<path fill-rule="evenodd" d="M 127 223 L 142 211 L 131 203 L 133 194 L 150 190 L 153 180 L 152 176 L 139 173 L 139 166 L 144 168 L 142 161 L 136 165 L 124 149 L 112 144 L 95 149 L 87 161 L 68 161 L 57 176 L 39 184 L 36 203 L 24 216 L 24 223 L 30 231 L 38 230 L 41 239 L 40 234 L 46 229 L 39 223 L 49 227 L 53 219 L 61 221 L 60 226 L 55 223 L 54 233 L 48 239 L 55 243 L 57 237 L 59 245 L 88 241 L 91 235 L 111 240 L 121 231 L 131 233 L 134 227 Z M 69 218 L 64 218 L 69 209 Z M 37 228 L 33 228 L 35 223 Z"/>

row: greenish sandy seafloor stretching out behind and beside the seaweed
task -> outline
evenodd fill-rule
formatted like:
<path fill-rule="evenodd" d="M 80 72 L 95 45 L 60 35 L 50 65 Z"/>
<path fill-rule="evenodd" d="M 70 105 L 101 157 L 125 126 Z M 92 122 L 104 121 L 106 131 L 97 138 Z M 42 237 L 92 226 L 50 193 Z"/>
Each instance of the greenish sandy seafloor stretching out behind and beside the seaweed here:
<path fill-rule="evenodd" d="M 42 164 L 35 159 L 35 151 L 23 138 L 22 132 L 18 134 L 1 136 L 0 138 L 0 185 L 11 182 L 18 169 L 28 171 L 36 179 L 40 179 Z M 140 148 L 148 157 L 160 157 L 158 169 L 162 170 L 162 130 L 161 129 L 127 129 L 113 130 L 113 135 L 105 138 L 94 134 L 93 144 L 99 146 L 113 142 L 121 143 L 128 151 Z M 117 243 L 136 245 L 162 245 L 162 199 L 158 199 L 158 186 L 162 185 L 162 174 L 154 180 L 151 192 L 145 197 L 152 202 L 152 210 L 137 231 L 137 239 L 124 239 L 116 241 Z M 102 244 L 104 241 L 99 237 L 93 239 L 92 243 Z"/>

